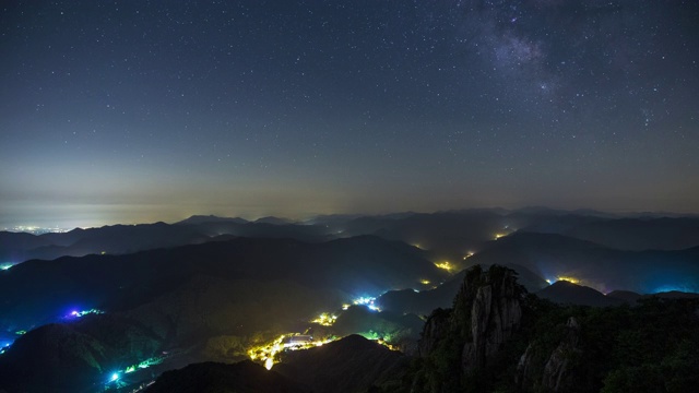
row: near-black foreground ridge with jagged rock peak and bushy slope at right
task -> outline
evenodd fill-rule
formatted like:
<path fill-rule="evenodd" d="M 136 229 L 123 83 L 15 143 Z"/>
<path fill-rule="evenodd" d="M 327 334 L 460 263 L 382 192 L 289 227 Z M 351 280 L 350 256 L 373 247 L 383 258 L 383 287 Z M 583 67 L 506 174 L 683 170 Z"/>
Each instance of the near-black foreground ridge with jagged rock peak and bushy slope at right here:
<path fill-rule="evenodd" d="M 502 266 L 467 272 L 433 312 L 407 381 L 390 393 L 694 392 L 699 300 L 566 306 L 524 295 Z M 649 390 L 650 389 L 650 390 Z"/>

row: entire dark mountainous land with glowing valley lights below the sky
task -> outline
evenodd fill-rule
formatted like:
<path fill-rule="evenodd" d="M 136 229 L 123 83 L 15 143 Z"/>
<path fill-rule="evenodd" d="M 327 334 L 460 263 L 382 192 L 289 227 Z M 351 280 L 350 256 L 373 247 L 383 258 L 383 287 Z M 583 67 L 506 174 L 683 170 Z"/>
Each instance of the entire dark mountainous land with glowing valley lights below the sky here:
<path fill-rule="evenodd" d="M 540 209 L 0 233 L 0 392 L 691 391 L 698 234 Z"/>

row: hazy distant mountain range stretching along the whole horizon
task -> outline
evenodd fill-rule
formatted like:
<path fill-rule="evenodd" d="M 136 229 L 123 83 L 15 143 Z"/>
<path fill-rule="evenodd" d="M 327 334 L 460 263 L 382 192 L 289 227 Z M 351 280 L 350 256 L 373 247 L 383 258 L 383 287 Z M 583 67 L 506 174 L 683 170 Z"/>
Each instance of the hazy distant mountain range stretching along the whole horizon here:
<path fill-rule="evenodd" d="M 678 250 L 699 246 L 699 217 L 617 217 L 594 211 L 530 207 L 463 210 L 438 213 L 396 213 L 377 216 L 319 216 L 304 224 L 284 218 L 192 216 L 175 225 L 115 225 L 74 229 L 66 234 L 29 237 L 0 233 L 0 257 L 9 262 L 80 257 L 88 253 L 129 253 L 152 248 L 208 241 L 221 235 L 327 241 L 337 237 L 377 235 L 430 250 L 430 258 L 460 263 L 482 250 L 496 235 L 516 230 L 558 234 L 624 250 Z"/>

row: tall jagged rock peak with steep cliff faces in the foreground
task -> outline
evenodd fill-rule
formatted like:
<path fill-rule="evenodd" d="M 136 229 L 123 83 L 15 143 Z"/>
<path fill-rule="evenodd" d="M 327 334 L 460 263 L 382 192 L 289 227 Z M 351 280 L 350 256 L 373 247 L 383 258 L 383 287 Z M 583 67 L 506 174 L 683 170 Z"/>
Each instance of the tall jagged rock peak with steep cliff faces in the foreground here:
<path fill-rule="evenodd" d="M 418 373 L 414 391 L 459 390 L 464 378 L 496 359 L 520 326 L 525 294 L 510 269 L 469 270 L 453 309 L 436 310 L 425 324 L 418 347 L 429 366 Z"/>

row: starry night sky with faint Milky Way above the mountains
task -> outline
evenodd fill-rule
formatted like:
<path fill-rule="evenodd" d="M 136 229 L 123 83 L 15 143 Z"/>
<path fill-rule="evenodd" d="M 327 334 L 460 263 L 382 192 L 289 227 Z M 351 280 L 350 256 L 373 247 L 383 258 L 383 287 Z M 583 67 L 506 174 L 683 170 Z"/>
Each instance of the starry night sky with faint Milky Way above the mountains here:
<path fill-rule="evenodd" d="M 0 227 L 699 213 L 695 0 L 5 1 Z"/>

